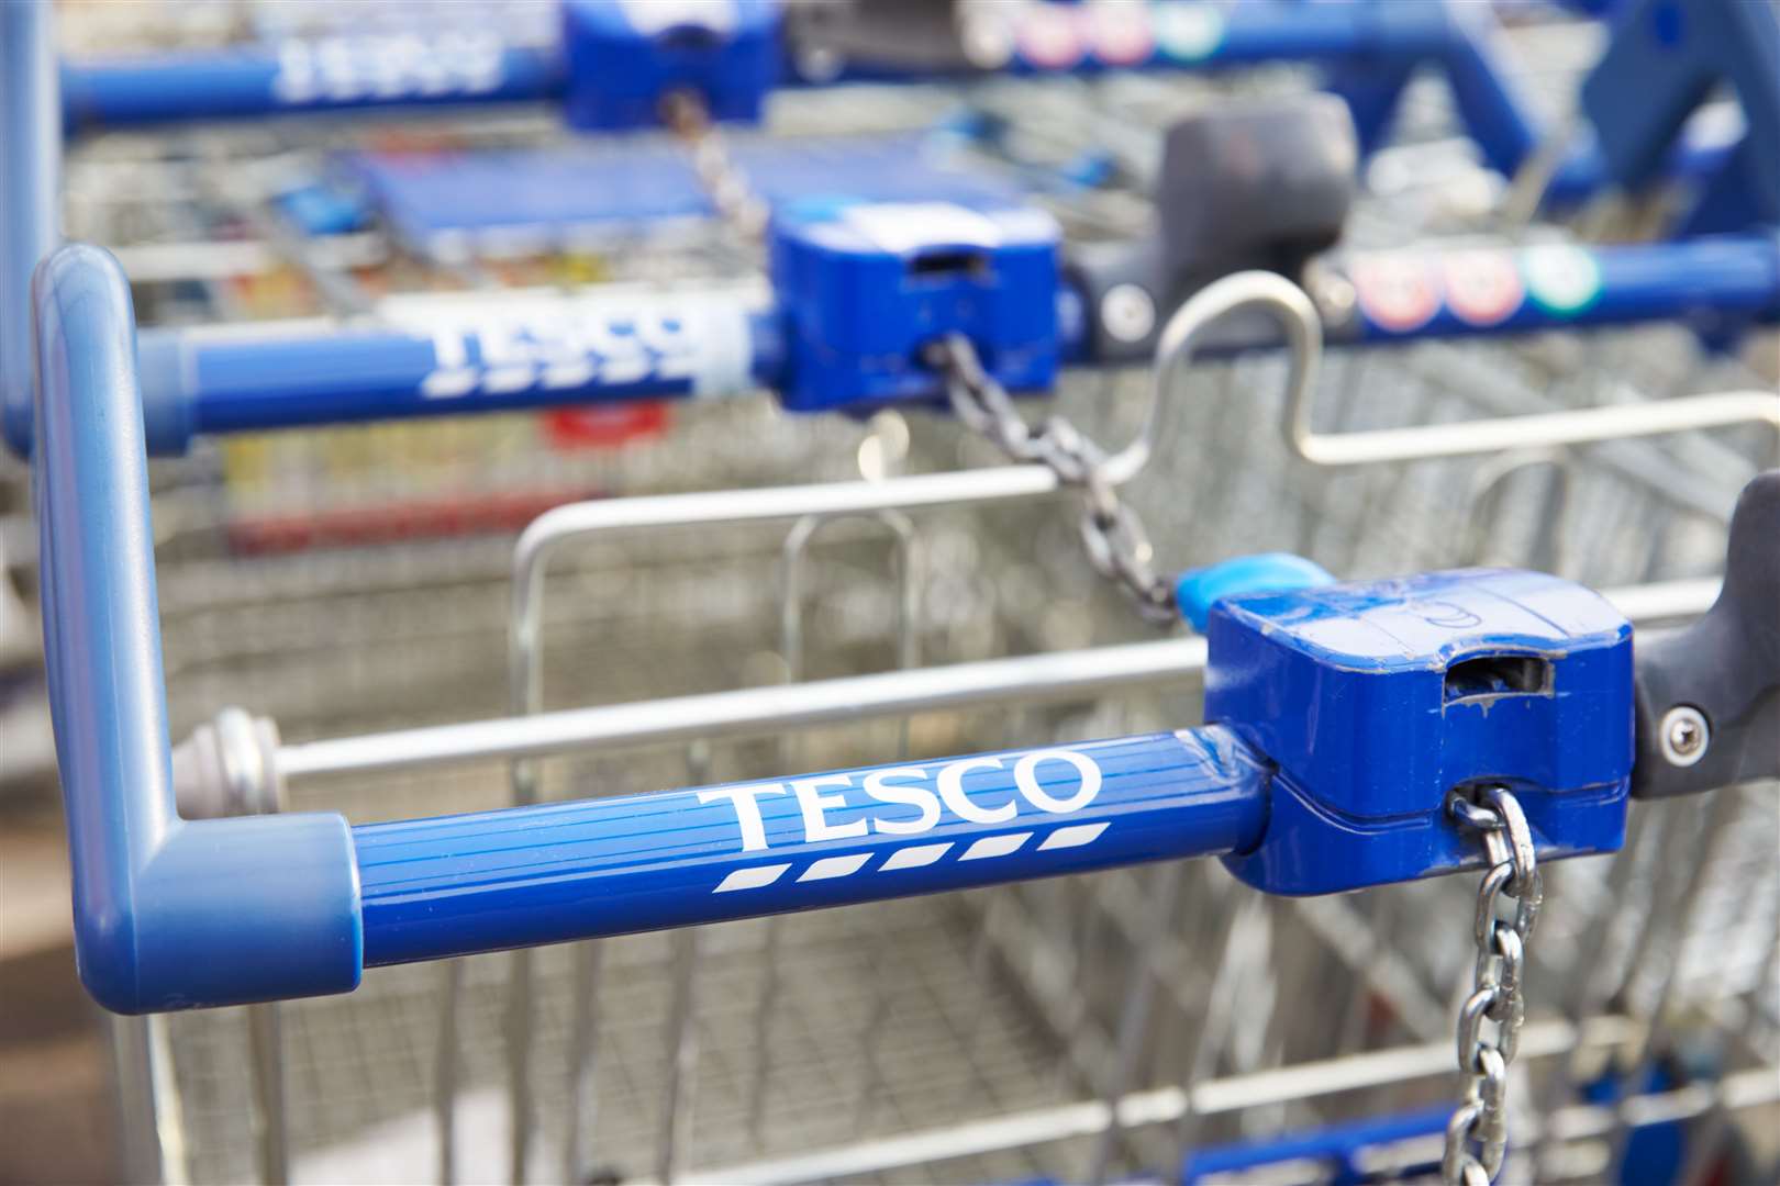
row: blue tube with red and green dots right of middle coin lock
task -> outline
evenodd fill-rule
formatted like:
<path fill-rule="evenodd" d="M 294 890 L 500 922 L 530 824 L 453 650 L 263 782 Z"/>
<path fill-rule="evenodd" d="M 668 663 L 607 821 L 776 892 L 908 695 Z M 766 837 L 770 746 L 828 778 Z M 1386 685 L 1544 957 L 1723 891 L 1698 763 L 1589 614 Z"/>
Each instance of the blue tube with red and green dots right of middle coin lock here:
<path fill-rule="evenodd" d="M 1356 254 L 1347 274 L 1358 297 L 1347 334 L 1369 343 L 1659 320 L 1734 333 L 1780 317 L 1776 235 Z"/>

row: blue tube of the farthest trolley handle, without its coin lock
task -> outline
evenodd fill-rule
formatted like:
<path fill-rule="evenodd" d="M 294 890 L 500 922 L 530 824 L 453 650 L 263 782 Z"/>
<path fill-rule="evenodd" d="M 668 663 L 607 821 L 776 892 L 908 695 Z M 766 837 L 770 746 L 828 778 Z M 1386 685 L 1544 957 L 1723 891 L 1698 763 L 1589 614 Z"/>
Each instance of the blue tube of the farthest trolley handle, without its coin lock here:
<path fill-rule="evenodd" d="M 1059 5 L 1061 7 L 1061 5 Z M 1063 16 L 1070 32 L 1034 53 L 1015 46 L 1000 68 L 1013 75 L 1095 75 L 1116 69 L 1218 69 L 1280 60 L 1360 62 L 1396 82 L 1374 96 L 1388 121 L 1401 84 L 1420 62 L 1440 62 L 1485 158 L 1513 172 L 1538 144 L 1533 114 L 1490 60 L 1483 32 L 1467 28 L 1468 12 L 1442 4 L 1296 4 L 1244 0 L 1159 5 L 1143 39 L 1118 50 L 1096 43 L 1091 18 Z M 1080 27 L 1080 28 L 1077 28 Z M 559 48 L 502 46 L 495 37 L 427 34 L 356 36 L 287 41 L 226 52 L 182 53 L 62 64 L 66 132 L 151 126 L 190 119 L 242 119 L 294 112 L 365 110 L 440 103 L 511 103 L 559 100 L 566 91 Z M 975 73 L 975 71 L 965 71 Z M 837 75 L 803 76 L 790 64 L 780 85 L 837 82 L 920 82 L 934 75 L 854 66 Z M 1363 105 L 1363 94 L 1349 96 Z M 1356 116 L 1365 112 L 1356 108 Z M 1372 123 L 1371 117 L 1362 123 Z M 1682 144 L 1670 172 L 1712 176 L 1727 158 L 1723 144 Z M 1598 153 L 1581 149 L 1549 188 L 1554 204 L 1575 204 L 1600 190 Z"/>

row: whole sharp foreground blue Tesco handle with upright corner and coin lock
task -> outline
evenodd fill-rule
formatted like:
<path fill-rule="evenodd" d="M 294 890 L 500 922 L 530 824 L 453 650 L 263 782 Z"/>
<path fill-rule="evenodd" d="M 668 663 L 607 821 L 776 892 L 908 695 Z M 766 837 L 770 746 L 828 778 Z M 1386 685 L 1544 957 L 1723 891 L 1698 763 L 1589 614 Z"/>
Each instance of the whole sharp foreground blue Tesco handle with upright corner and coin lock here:
<path fill-rule="evenodd" d="M 1541 859 L 1622 843 L 1630 628 L 1588 590 L 1502 571 L 1218 601 L 1196 731 L 356 829 L 180 820 L 128 286 L 71 245 L 34 301 L 77 957 L 112 1010 L 1134 861 L 1225 855 L 1264 889 L 1355 889 L 1476 866 L 1447 795 L 1479 782 L 1515 789 Z"/>

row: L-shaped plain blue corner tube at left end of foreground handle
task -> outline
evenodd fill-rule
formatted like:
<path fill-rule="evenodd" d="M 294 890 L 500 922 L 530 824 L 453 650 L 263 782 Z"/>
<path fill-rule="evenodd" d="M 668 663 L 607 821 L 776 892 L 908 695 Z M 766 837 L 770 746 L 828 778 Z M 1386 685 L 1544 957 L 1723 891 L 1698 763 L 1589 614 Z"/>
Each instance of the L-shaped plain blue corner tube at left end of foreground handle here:
<path fill-rule="evenodd" d="M 174 811 L 123 270 L 62 247 L 32 302 L 32 493 L 80 978 L 125 1014 L 347 990 L 360 916 L 345 820 Z"/>

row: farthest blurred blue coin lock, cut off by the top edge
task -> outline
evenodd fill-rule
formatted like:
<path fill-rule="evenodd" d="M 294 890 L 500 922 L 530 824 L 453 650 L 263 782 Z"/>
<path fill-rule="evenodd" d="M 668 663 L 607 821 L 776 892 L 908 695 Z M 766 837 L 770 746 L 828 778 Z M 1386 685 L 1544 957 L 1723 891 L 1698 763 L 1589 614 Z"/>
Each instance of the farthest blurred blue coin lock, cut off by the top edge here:
<path fill-rule="evenodd" d="M 591 132 L 655 128 L 696 94 L 712 119 L 760 119 L 778 80 L 773 0 L 564 0 L 564 116 Z"/>

